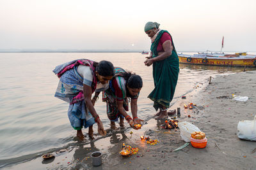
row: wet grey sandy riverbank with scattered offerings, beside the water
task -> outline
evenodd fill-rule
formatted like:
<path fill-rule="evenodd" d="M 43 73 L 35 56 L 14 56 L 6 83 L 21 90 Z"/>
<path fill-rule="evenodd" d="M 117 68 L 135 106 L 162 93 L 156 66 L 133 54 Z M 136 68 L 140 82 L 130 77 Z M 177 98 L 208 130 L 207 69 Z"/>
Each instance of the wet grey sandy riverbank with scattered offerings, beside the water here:
<path fill-rule="evenodd" d="M 239 120 L 252 120 L 256 114 L 256 71 L 217 76 L 210 85 L 198 87 L 196 92 L 179 99 L 170 110 L 180 107 L 179 122 L 191 122 L 205 132 L 208 139 L 206 148 L 186 148 L 174 152 L 184 145 L 179 130 L 175 132 L 160 127 L 164 122 L 149 118 L 136 131 L 130 128 L 108 132 L 106 138 L 94 142 L 68 146 L 68 151 L 54 153 L 55 159 L 37 159 L 6 167 L 8 169 L 255 169 L 255 141 L 237 138 Z M 246 102 L 235 101 L 232 94 L 248 96 Z M 195 103 L 196 108 L 186 110 L 183 104 Z M 154 115 L 154 113 L 152 113 Z M 191 117 L 188 117 L 190 115 Z M 170 117 L 169 117 L 170 118 Z M 125 123 L 125 127 L 127 124 Z M 130 133 L 132 131 L 132 134 Z M 146 132 L 147 131 L 147 132 Z M 157 145 L 140 141 L 145 134 L 158 139 Z M 96 136 L 99 137 L 99 136 Z M 124 158 L 118 154 L 122 143 L 138 147 L 139 152 Z M 92 166 L 90 153 L 100 150 L 103 164 Z"/>

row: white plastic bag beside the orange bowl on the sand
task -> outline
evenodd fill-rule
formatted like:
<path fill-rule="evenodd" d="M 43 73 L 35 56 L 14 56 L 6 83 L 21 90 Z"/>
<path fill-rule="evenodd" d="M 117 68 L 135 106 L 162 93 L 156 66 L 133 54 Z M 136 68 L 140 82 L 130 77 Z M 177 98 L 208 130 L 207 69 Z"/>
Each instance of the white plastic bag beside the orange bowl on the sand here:
<path fill-rule="evenodd" d="M 191 133 L 201 132 L 198 127 L 189 122 L 179 122 L 178 126 L 180 129 L 180 137 L 186 142 L 190 142 Z"/>

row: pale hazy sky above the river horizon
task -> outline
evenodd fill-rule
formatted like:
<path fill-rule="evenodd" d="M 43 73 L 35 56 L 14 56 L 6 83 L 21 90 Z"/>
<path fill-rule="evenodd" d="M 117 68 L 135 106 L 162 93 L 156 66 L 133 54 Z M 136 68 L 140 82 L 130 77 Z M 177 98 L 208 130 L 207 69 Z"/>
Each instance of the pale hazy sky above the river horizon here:
<path fill-rule="evenodd" d="M 149 50 L 148 21 L 181 51 L 256 51 L 255 0 L 0 0 L 0 49 Z"/>

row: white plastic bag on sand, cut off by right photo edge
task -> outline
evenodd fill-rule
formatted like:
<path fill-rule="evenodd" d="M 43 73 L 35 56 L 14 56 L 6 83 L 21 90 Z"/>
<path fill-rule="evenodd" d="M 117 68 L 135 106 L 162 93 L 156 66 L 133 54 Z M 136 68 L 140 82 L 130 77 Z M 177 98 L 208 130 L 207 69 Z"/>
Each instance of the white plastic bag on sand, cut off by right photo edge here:
<path fill-rule="evenodd" d="M 240 139 L 256 141 L 256 115 L 254 120 L 242 120 L 238 122 L 237 136 Z"/>

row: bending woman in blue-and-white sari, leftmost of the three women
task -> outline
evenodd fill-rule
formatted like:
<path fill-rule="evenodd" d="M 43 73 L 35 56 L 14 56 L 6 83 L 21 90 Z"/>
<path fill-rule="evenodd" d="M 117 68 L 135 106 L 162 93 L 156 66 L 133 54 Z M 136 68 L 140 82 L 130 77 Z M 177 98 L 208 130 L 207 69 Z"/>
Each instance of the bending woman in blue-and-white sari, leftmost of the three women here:
<path fill-rule="evenodd" d="M 93 106 L 100 91 L 108 89 L 109 80 L 115 74 L 113 64 L 106 60 L 97 63 L 79 59 L 61 64 L 53 72 L 60 78 L 55 97 L 70 103 L 68 118 L 77 131 L 77 137 L 83 140 L 82 129 L 89 127 L 88 134 L 93 139 L 95 122 L 97 122 L 99 134 L 106 134 Z M 93 92 L 95 96 L 92 98 Z"/>

